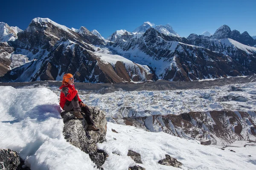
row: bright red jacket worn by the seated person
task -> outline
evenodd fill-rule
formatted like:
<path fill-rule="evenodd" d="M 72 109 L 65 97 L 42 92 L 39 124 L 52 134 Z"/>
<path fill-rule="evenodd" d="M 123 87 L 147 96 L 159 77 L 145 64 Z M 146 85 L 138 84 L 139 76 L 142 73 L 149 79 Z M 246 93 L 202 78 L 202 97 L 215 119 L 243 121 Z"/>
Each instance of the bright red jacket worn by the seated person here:
<path fill-rule="evenodd" d="M 71 101 L 76 96 L 77 91 L 74 85 L 69 85 L 69 84 L 61 85 L 60 89 L 61 89 L 60 105 L 61 105 L 61 108 L 63 109 L 66 101 L 67 100 Z M 82 102 L 79 96 L 78 96 L 78 101 L 79 103 Z"/>

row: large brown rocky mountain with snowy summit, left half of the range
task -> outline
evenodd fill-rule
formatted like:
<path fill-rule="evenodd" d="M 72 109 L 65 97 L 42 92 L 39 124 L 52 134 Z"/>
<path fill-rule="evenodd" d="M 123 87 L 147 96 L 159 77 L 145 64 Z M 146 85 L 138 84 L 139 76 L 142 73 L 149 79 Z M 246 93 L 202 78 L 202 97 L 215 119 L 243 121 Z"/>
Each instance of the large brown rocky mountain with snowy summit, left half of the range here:
<path fill-rule="evenodd" d="M 35 18 L 26 30 L 18 33 L 17 40 L 1 43 L 0 80 L 61 80 L 66 72 L 74 74 L 80 82 L 153 79 L 150 71 L 135 63 L 128 67 L 122 61 L 115 65 L 103 61 L 94 54 L 100 50 L 94 45 L 104 44 L 85 27 L 74 32 L 52 20 Z"/>

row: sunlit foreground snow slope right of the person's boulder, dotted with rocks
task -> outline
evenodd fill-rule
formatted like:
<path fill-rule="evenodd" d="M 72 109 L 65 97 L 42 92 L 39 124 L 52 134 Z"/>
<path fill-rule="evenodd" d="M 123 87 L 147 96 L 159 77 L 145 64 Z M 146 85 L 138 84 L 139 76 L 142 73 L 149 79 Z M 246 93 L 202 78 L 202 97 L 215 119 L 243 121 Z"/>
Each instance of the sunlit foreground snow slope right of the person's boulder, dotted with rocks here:
<path fill-rule="evenodd" d="M 108 122 L 106 142 L 98 144 L 99 149 L 105 150 L 109 157 L 103 164 L 107 170 L 126 170 L 136 163 L 127 156 L 128 150 L 133 150 L 141 155 L 146 170 L 178 170 L 179 168 L 158 164 L 165 158 L 165 154 L 176 158 L 183 163 L 183 170 L 253 170 L 255 165 L 256 147 L 232 148 L 236 153 L 227 148 L 204 146 L 196 140 L 180 139 L 167 133 L 146 132 L 136 127 L 116 125 Z M 112 129 L 118 133 L 114 133 Z M 114 152 L 114 153 L 112 153 Z M 252 157 L 248 156 L 250 152 Z M 117 154 L 120 154 L 118 156 Z"/>

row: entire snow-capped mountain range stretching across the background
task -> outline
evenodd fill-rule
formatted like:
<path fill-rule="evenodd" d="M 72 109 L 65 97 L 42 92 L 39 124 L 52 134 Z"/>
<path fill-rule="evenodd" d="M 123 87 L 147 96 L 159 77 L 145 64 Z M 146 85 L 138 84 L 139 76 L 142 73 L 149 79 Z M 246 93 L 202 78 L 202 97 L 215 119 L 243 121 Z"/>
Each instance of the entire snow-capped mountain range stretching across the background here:
<path fill-rule="evenodd" d="M 209 34 L 208 34 L 209 35 Z M 148 23 L 133 32 L 67 28 L 35 18 L 24 30 L 0 23 L 0 81 L 195 81 L 255 74 L 256 40 L 224 25 L 213 35 L 180 37 L 171 26 Z"/>

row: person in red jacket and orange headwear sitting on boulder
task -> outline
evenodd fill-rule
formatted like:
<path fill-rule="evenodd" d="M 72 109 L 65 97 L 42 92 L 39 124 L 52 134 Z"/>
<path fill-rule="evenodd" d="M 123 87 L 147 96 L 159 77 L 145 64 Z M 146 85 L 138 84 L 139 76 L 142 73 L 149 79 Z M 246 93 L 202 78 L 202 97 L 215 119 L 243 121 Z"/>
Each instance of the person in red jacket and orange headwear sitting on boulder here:
<path fill-rule="evenodd" d="M 88 127 L 86 130 L 99 131 L 94 125 L 91 118 L 91 112 L 87 105 L 85 105 L 78 96 L 78 91 L 74 86 L 74 77 L 72 74 L 64 74 L 61 89 L 60 106 L 64 111 L 73 111 L 77 119 L 83 120 L 81 111 L 85 113 L 85 120 Z"/>

